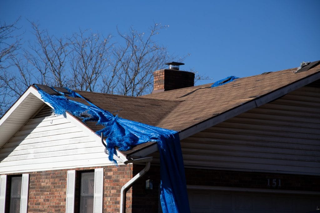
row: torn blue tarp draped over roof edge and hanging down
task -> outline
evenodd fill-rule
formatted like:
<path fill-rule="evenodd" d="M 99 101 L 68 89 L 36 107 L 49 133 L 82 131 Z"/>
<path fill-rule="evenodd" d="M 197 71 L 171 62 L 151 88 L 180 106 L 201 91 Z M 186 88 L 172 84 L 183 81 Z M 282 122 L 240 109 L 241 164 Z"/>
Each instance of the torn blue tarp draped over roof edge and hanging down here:
<path fill-rule="evenodd" d="M 98 135 L 103 133 L 107 138 L 106 147 L 111 161 L 116 162 L 113 159 L 116 147 L 120 151 L 127 151 L 138 144 L 157 142 L 160 153 L 162 211 L 164 213 L 190 212 L 178 132 L 114 116 L 68 88 L 66 88 L 68 93 L 52 88 L 60 95 L 49 95 L 38 86 L 36 88 L 42 99 L 54 108 L 56 114 L 65 114 L 67 111 L 81 118 L 83 122 L 95 121 L 103 125 L 104 128 L 96 133 Z M 84 99 L 88 105 L 68 99 L 68 96 Z"/>

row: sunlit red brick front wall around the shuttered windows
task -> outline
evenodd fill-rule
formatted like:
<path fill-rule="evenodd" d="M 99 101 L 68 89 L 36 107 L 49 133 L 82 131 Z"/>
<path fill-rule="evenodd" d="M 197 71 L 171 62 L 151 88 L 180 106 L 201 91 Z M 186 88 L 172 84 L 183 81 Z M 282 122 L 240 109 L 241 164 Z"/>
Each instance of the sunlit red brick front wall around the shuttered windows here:
<path fill-rule="evenodd" d="M 84 171 L 101 167 L 76 168 L 70 170 Z M 106 166 L 104 168 L 103 212 L 120 211 L 121 187 L 132 178 L 132 165 Z M 10 174 L 19 175 L 20 173 Z M 76 173 L 79 177 L 79 172 Z M 49 170 L 29 172 L 28 213 L 66 212 L 67 170 Z M 76 193 L 79 181 L 76 181 Z M 126 212 L 132 212 L 132 189 L 126 193 Z M 77 212 L 75 199 L 75 212 Z"/>

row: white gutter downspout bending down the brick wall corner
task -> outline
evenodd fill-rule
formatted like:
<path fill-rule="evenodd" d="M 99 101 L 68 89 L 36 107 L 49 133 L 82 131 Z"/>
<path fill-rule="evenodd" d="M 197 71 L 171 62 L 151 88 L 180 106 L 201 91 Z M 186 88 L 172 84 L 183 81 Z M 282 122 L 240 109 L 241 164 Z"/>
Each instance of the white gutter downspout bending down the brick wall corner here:
<path fill-rule="evenodd" d="M 130 188 L 132 186 L 132 184 L 134 182 L 136 182 L 140 177 L 142 177 L 144 174 L 147 173 L 147 171 L 150 169 L 150 163 L 151 163 L 152 159 L 153 159 L 153 157 L 147 157 L 147 158 L 140 158 L 140 159 L 130 160 L 130 161 L 124 162 L 125 164 L 146 162 L 146 166 L 138 174 L 136 174 L 134 177 L 132 177 L 131 180 L 129 180 L 126 184 L 124 184 L 124 186 L 122 186 L 122 188 L 121 188 L 121 197 L 120 197 L 120 213 L 124 213 L 125 212 L 124 195 L 125 195 L 126 190 L 128 188 Z"/>

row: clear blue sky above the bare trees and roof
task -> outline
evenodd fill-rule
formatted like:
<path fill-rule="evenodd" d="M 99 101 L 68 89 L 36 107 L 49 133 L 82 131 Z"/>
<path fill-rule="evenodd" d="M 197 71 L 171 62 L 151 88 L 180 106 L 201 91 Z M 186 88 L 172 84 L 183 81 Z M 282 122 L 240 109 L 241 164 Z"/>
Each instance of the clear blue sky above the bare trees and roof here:
<path fill-rule="evenodd" d="M 2 0 L 0 19 L 21 16 L 24 39 L 33 39 L 28 20 L 57 37 L 79 28 L 116 35 L 116 26 L 143 32 L 154 22 L 169 25 L 155 40 L 171 54 L 191 54 L 180 69 L 194 68 L 214 82 L 320 60 L 319 9 L 320 0 Z"/>

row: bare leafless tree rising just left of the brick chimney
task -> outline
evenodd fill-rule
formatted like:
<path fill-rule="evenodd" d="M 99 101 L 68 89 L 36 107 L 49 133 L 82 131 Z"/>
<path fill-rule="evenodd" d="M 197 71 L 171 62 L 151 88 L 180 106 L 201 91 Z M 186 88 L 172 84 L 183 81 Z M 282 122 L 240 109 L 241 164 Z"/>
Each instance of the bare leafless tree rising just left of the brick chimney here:
<path fill-rule="evenodd" d="M 166 47 L 152 40 L 163 28 L 166 26 L 154 24 L 147 35 L 132 27 L 128 34 L 122 34 L 118 30 L 125 45 L 113 48 L 110 66 L 117 77 L 117 87 L 116 91 L 107 92 L 139 96 L 152 91 L 152 73 L 163 68 L 165 62 L 176 58 L 167 54 Z"/>

